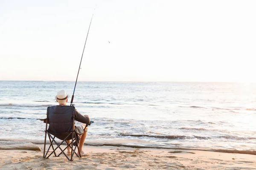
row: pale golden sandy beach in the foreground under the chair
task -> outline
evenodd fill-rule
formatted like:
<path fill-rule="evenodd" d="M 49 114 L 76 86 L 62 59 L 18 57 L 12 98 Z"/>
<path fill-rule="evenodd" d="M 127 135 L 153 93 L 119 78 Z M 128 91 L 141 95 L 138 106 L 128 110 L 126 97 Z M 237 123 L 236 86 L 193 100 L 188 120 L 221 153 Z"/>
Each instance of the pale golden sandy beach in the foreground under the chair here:
<path fill-rule="evenodd" d="M 1 170 L 253 170 L 256 155 L 222 153 L 201 150 L 154 149 L 114 146 L 84 146 L 90 156 L 68 161 L 64 155 L 43 159 L 43 144 L 32 144 L 41 151 L 27 149 L 7 150 L 2 147 Z"/>

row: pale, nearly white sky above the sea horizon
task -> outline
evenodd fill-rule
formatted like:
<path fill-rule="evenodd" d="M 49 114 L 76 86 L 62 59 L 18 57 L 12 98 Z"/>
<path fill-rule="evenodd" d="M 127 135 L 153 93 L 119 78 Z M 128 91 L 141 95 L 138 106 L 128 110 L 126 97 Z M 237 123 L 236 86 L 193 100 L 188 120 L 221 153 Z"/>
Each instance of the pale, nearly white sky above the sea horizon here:
<path fill-rule="evenodd" d="M 255 82 L 255 8 L 255 0 L 0 0 L 0 80 L 75 81 L 94 11 L 79 81 Z"/>

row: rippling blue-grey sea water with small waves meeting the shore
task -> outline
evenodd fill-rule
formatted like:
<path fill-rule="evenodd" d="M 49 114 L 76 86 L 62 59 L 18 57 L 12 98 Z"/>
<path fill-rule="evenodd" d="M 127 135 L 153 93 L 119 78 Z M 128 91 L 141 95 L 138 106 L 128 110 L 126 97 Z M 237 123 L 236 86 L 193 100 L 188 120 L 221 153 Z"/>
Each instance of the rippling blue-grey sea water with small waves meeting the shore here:
<path fill-rule="evenodd" d="M 48 106 L 75 82 L 0 81 L 0 139 L 44 140 Z M 70 97 L 71 99 L 71 97 Z M 217 82 L 78 82 L 87 140 L 156 147 L 256 150 L 256 86 Z M 77 123 L 79 124 L 79 123 Z M 134 144 L 133 144 L 134 145 Z"/>

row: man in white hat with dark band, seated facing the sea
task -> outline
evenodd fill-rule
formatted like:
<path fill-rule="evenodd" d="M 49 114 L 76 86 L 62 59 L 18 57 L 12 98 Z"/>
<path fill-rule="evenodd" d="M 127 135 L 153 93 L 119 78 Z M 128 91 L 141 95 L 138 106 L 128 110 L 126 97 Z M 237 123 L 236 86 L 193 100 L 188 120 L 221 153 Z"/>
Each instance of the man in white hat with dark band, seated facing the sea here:
<path fill-rule="evenodd" d="M 57 96 L 55 96 L 55 99 L 59 103 L 59 105 L 66 105 L 68 98 L 69 98 L 69 95 L 64 90 L 59 91 L 57 93 Z M 83 116 L 78 111 L 75 112 L 75 120 L 78 121 L 78 122 L 81 122 L 81 123 L 85 123 L 85 124 L 89 124 L 90 123 L 89 116 L 88 115 L 84 115 Z M 88 130 L 88 127 L 86 127 L 85 124 L 79 125 L 79 126 L 75 126 L 75 131 L 79 135 L 82 134 L 80 142 L 79 142 L 79 150 L 80 150 L 81 156 L 89 156 L 88 153 L 85 153 L 83 151 L 84 141 L 85 141 L 85 138 L 87 136 L 87 130 Z M 67 142 L 70 143 L 70 140 L 68 140 Z M 67 155 L 70 155 L 70 154 L 71 154 L 71 148 L 68 147 L 67 148 Z"/>

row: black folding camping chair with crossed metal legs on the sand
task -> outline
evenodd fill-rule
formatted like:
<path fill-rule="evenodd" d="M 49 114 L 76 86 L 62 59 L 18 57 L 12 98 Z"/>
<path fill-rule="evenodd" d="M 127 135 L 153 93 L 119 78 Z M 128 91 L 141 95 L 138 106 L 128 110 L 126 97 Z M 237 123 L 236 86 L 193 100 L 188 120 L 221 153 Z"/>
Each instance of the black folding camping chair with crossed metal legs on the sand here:
<path fill-rule="evenodd" d="M 66 158 L 69 161 L 73 161 L 73 155 L 74 153 L 76 154 L 77 157 L 81 158 L 81 153 L 78 147 L 79 143 L 79 134 L 76 133 L 74 130 L 75 127 L 75 107 L 74 106 L 51 106 L 47 108 L 47 118 L 44 119 L 44 123 L 46 123 L 45 127 L 45 137 L 44 137 L 44 159 L 48 159 L 49 156 L 54 153 L 55 156 L 60 156 L 61 153 L 66 156 Z M 60 119 L 61 118 L 61 119 Z M 61 121 L 60 121 L 61 120 Z M 90 125 L 93 122 L 90 122 Z M 49 128 L 47 129 L 47 125 L 49 124 Z M 60 127 L 60 125 L 62 125 Z M 85 127 L 85 128 L 86 128 Z M 46 136 L 49 137 L 50 145 L 45 153 L 45 148 L 46 148 Z M 58 144 L 55 139 L 61 139 L 62 141 Z M 67 142 L 67 140 L 71 140 L 70 143 Z M 64 149 L 61 149 L 61 144 L 66 142 L 67 147 L 71 147 L 71 155 L 70 157 L 67 156 L 67 154 L 64 152 L 67 147 Z M 56 144 L 56 147 L 54 148 Z M 65 144 L 65 143 L 64 143 Z M 75 149 L 73 149 L 73 146 L 75 146 Z M 50 148 L 52 148 L 52 152 L 49 153 Z M 78 149 L 78 153 L 76 153 L 76 148 Z M 56 154 L 56 150 L 59 149 L 61 150 L 61 153 L 58 155 Z M 47 156 L 47 154 L 49 155 Z"/>

